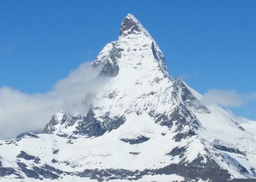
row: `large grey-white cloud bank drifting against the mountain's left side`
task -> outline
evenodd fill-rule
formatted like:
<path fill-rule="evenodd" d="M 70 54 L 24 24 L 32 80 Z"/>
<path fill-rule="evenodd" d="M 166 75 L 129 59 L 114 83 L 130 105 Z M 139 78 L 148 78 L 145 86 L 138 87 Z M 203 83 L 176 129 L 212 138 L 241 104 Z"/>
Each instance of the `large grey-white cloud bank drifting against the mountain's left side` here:
<path fill-rule="evenodd" d="M 57 82 L 52 91 L 43 94 L 25 94 L 10 87 L 1 87 L 0 139 L 42 129 L 60 110 L 86 114 L 94 94 L 109 79 L 98 76 L 99 72 L 99 67 L 83 63 L 67 78 Z"/>

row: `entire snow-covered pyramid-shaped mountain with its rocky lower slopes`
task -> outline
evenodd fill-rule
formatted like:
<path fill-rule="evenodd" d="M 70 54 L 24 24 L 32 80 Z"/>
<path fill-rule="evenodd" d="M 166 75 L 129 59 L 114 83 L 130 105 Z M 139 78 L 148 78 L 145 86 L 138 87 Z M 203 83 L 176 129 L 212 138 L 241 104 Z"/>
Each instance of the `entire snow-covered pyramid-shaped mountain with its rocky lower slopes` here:
<path fill-rule="evenodd" d="M 0 141 L 0 181 L 256 181 L 256 139 L 169 76 L 134 16 L 91 66 L 108 79 L 89 112 Z"/>

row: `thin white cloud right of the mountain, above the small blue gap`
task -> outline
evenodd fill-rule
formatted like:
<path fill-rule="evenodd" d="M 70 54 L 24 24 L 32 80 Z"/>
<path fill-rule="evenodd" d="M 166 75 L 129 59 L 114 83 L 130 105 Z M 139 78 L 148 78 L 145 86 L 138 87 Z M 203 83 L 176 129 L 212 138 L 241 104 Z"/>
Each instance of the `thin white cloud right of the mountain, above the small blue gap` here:
<path fill-rule="evenodd" d="M 201 102 L 206 105 L 219 104 L 224 107 L 240 107 L 256 101 L 256 92 L 239 94 L 236 90 L 210 89 Z"/>

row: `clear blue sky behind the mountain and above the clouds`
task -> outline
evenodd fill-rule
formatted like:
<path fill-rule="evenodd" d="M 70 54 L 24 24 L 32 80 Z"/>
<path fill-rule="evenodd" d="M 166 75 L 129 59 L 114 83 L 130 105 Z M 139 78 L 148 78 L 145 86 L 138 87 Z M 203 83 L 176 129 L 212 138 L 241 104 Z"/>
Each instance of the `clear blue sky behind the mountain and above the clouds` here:
<path fill-rule="evenodd" d="M 256 91 L 255 0 L 0 0 L 0 87 L 50 91 L 117 39 L 127 13 L 158 43 L 170 75 L 196 91 Z M 256 120 L 253 102 L 232 110 Z"/>

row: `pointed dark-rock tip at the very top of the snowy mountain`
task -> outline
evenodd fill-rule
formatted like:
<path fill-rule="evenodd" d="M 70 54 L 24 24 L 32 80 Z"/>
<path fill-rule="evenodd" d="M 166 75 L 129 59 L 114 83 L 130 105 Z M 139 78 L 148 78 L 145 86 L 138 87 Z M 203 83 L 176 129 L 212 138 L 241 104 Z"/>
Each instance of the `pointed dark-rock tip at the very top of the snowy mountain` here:
<path fill-rule="evenodd" d="M 121 24 L 120 35 L 140 34 L 144 33 L 146 36 L 150 36 L 146 29 L 140 24 L 140 22 L 131 14 L 125 17 Z"/>

